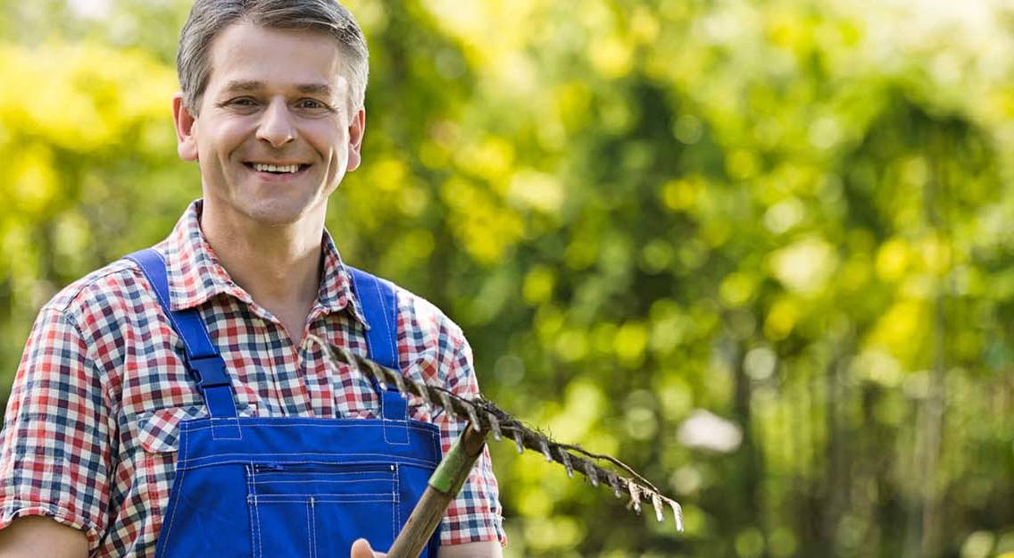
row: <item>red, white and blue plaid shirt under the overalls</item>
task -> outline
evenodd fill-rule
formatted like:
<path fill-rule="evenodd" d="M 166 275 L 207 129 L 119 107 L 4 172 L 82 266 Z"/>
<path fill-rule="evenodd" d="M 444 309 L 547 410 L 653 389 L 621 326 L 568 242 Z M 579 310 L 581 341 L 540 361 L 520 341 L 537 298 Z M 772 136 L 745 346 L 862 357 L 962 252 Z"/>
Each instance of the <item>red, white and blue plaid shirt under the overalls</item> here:
<path fill-rule="evenodd" d="M 219 265 L 195 202 L 165 256 L 173 309 L 197 307 L 222 352 L 240 416 L 375 418 L 369 379 L 295 346 L 280 322 Z M 364 318 L 331 236 L 310 333 L 365 354 Z M 426 300 L 397 290 L 397 351 L 417 380 L 479 393 L 461 330 Z M 49 515 L 80 529 L 92 556 L 154 553 L 175 470 L 177 425 L 207 415 L 184 350 L 134 264 L 106 266 L 61 291 L 40 312 L 14 379 L 0 435 L 0 529 Z M 337 367 L 336 367 L 337 366 Z M 435 422 L 443 449 L 464 427 L 410 399 L 412 418 Z M 500 539 L 501 508 L 489 454 L 443 520 L 444 545 Z"/>

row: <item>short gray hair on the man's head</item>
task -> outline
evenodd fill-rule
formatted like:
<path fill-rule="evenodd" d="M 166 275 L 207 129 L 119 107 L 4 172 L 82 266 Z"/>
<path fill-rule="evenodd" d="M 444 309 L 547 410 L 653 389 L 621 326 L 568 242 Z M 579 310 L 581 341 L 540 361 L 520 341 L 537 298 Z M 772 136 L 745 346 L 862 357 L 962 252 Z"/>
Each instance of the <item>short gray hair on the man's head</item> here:
<path fill-rule="evenodd" d="M 176 73 L 184 106 L 196 115 L 211 75 L 209 53 L 215 38 L 229 25 L 248 21 L 269 29 L 315 30 L 338 41 L 345 55 L 350 110 L 366 100 L 369 51 L 352 13 L 335 0 L 197 0 L 179 34 Z"/>

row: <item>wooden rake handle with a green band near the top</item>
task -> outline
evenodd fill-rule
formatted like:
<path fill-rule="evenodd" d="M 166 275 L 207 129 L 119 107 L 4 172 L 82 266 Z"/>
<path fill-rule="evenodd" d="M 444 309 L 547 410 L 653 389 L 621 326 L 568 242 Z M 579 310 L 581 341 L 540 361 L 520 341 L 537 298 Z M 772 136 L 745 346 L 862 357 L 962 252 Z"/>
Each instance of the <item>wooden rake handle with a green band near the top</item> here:
<path fill-rule="evenodd" d="M 486 428 L 477 432 L 472 423 L 468 423 L 433 472 L 426 492 L 397 534 L 397 539 L 387 552 L 387 558 L 419 558 L 447 511 L 450 501 L 461 491 L 476 460 L 483 455 L 488 433 L 489 429 Z"/>

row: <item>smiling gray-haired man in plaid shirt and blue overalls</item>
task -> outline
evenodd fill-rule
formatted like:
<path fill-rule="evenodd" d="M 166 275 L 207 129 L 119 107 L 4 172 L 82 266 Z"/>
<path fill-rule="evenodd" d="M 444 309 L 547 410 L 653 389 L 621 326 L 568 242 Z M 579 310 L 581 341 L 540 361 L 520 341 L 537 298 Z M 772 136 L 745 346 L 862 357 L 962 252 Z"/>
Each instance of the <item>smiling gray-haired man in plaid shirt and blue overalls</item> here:
<path fill-rule="evenodd" d="M 329 197 L 361 161 L 366 59 L 359 27 L 332 0 L 197 1 L 180 38 L 173 118 L 179 156 L 200 167 L 203 200 L 157 254 L 94 272 L 40 312 L 0 437 L 0 557 L 225 558 L 214 549 L 239 540 L 249 551 L 241 555 L 305 546 L 307 556 L 367 558 L 365 541 L 351 551 L 324 543 L 359 536 L 340 538 L 343 529 L 404 524 L 407 502 L 351 514 L 336 506 L 343 518 L 320 521 L 343 498 L 396 500 L 405 493 L 399 483 L 420 477 L 410 470 L 421 460 L 399 454 L 389 470 L 369 462 L 321 477 L 321 467 L 345 465 L 336 456 L 359 454 L 336 447 L 317 459 L 305 449 L 352 428 L 383 435 L 356 434 L 348 444 L 397 454 L 399 436 L 414 443 L 422 432 L 425 440 L 427 426 L 431 446 L 445 451 L 463 428 L 421 402 L 406 409 L 400 397 L 329 361 L 315 342 L 372 357 L 388 333 L 365 316 L 377 311 L 362 279 L 342 264 L 323 228 Z M 370 284 L 383 290 L 382 282 Z M 395 365 L 414 379 L 478 393 L 460 329 L 425 300 L 390 293 Z M 196 317 L 190 331 L 177 323 L 185 315 Z M 197 364 L 204 357 L 194 354 L 194 330 L 207 332 L 221 369 Z M 381 413 L 384 420 L 334 420 Z M 422 422 L 439 430 L 414 426 Z M 282 449 L 265 449 L 276 442 Z M 231 448 L 252 457 L 231 463 L 223 458 Z M 221 476 L 194 484 L 213 471 Z M 233 481 L 243 493 L 229 499 Z M 348 493 L 331 488 L 346 485 Z M 370 500 L 357 486 L 381 488 L 365 489 Z M 500 557 L 503 540 L 487 454 L 448 509 L 438 555 Z"/>

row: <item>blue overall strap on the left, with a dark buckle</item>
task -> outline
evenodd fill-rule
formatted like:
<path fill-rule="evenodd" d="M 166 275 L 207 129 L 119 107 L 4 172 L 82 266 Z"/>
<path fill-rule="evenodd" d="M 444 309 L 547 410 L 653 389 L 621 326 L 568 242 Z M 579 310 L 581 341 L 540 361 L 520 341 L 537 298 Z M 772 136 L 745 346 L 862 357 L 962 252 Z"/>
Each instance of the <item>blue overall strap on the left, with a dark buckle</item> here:
<path fill-rule="evenodd" d="M 162 256 L 153 249 L 147 249 L 127 256 L 127 260 L 141 268 L 148 283 L 155 289 L 162 310 L 183 340 L 187 370 L 201 388 L 208 414 L 213 419 L 235 418 L 236 404 L 232 397 L 232 383 L 225 371 L 225 360 L 211 342 L 196 308 L 173 310 L 169 306 L 169 282 Z"/>

